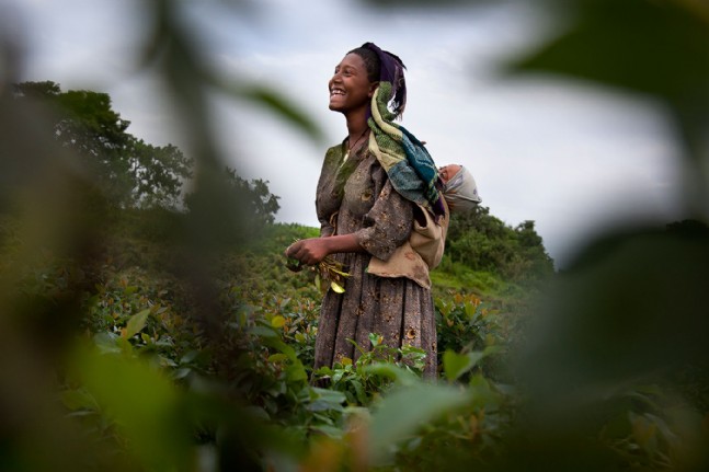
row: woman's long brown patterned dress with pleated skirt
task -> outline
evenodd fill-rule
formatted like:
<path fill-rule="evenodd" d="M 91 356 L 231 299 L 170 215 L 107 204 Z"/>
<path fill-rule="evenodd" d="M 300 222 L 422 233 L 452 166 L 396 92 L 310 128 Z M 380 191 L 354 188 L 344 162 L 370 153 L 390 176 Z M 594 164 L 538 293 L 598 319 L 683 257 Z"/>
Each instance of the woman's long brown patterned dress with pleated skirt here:
<path fill-rule="evenodd" d="M 356 234 L 366 253 L 339 253 L 351 277 L 343 293 L 329 289 L 322 300 L 315 368 L 332 366 L 358 350 L 348 341 L 369 349 L 369 334 L 384 344 L 404 344 L 426 352 L 424 377 L 436 377 L 436 325 L 431 291 L 405 277 L 378 277 L 367 273 L 371 255 L 388 260 L 409 240 L 414 204 L 399 195 L 376 157 L 362 146 L 343 163 L 344 143 L 325 153 L 317 188 L 316 208 L 322 237 Z"/>

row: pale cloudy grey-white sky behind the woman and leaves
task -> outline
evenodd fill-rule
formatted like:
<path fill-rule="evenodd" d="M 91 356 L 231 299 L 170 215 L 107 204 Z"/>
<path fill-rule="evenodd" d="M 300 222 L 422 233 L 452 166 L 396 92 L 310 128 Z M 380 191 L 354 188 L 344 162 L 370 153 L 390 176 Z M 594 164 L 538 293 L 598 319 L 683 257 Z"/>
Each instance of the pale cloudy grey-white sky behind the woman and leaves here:
<path fill-rule="evenodd" d="M 130 134 L 180 147 L 155 76 L 136 68 L 150 20 L 144 2 L 0 0 L 0 30 L 23 45 L 21 81 L 108 93 L 113 110 L 131 122 Z M 277 221 L 319 226 L 322 158 L 346 136 L 344 117 L 328 110 L 328 81 L 347 50 L 369 41 L 407 65 L 401 124 L 426 141 L 438 165 L 472 172 L 491 215 L 511 227 L 534 220 L 558 267 L 614 221 L 670 221 L 678 211 L 678 151 L 654 103 L 587 83 L 501 73 L 553 31 L 530 2 L 405 11 L 347 0 L 228 3 L 181 2 L 205 59 L 225 76 L 289 97 L 325 137 L 316 142 L 272 113 L 214 100 L 228 164 L 268 182 L 281 197 Z M 252 8 L 244 12 L 243 4 Z"/>

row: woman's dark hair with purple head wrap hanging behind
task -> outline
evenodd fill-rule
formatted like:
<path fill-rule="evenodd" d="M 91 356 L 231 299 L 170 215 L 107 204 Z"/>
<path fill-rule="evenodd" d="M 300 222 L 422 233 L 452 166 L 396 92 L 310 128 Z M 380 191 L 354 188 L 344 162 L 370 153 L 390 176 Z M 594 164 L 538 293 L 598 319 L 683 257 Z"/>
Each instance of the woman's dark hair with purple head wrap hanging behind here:
<path fill-rule="evenodd" d="M 403 65 L 403 61 L 399 56 L 380 49 L 374 43 L 365 43 L 347 54 L 352 53 L 364 61 L 369 82 L 391 83 L 391 96 L 389 97 L 391 111 L 397 117 L 401 117 L 407 106 L 407 80 L 403 77 L 407 66 Z"/>

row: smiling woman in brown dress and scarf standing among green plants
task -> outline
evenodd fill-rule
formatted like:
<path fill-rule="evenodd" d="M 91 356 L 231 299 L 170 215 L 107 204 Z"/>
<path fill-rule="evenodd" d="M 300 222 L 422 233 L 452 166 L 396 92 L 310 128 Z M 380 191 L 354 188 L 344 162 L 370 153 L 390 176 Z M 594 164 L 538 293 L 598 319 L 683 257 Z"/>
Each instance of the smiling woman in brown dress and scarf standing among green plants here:
<path fill-rule="evenodd" d="M 405 105 L 403 70 L 397 56 L 367 43 L 345 55 L 329 82 L 330 110 L 344 115 L 347 137 L 328 150 L 322 165 L 316 196 L 320 238 L 286 250 L 288 257 L 308 265 L 332 255 L 351 275 L 344 292 L 331 289 L 323 298 L 316 369 L 356 359 L 358 350 L 348 339 L 369 348 L 368 336 L 376 333 L 388 346 L 424 349 L 424 376 L 436 376 L 430 290 L 413 278 L 367 269 L 373 258 L 388 261 L 408 242 L 414 215 L 428 211 L 435 219 L 444 214 L 433 161 L 413 136 L 391 123 Z"/>

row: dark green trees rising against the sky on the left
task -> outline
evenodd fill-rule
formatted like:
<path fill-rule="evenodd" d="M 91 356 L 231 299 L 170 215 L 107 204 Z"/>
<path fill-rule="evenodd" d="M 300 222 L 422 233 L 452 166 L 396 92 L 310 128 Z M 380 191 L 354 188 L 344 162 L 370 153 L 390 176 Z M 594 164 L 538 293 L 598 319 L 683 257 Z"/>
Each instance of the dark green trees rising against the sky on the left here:
<path fill-rule="evenodd" d="M 52 81 L 19 83 L 14 91 L 16 101 L 54 108 L 54 136 L 76 151 L 110 202 L 121 207 L 179 205 L 192 160 L 172 145 L 155 147 L 127 133 L 130 122 L 112 110 L 108 94 L 61 92 Z"/>

